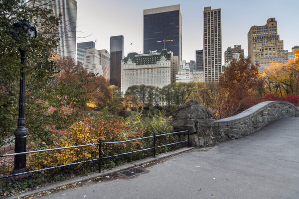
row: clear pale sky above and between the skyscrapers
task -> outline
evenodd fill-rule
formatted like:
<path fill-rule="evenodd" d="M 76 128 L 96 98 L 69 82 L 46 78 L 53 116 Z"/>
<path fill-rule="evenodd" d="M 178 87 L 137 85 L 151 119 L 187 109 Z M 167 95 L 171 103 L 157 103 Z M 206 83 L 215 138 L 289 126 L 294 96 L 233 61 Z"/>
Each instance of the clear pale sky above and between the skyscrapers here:
<path fill-rule="evenodd" d="M 143 52 L 143 10 L 180 4 L 182 10 L 182 59 L 195 60 L 203 48 L 203 8 L 221 8 L 222 60 L 228 46 L 247 51 L 247 33 L 275 17 L 284 49 L 299 45 L 299 0 L 77 0 L 77 42 L 95 41 L 110 51 L 110 36 L 124 35 L 124 56 Z M 90 36 L 89 36 L 90 35 Z M 133 43 L 131 46 L 130 44 Z"/>

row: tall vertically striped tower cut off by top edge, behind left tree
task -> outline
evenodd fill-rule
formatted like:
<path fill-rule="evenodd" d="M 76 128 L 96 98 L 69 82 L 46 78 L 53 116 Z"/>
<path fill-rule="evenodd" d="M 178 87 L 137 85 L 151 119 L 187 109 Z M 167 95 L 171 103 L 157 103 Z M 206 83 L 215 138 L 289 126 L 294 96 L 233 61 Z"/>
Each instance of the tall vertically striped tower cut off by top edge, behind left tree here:
<path fill-rule="evenodd" d="M 76 57 L 76 27 L 77 27 L 77 1 L 76 0 L 31 0 L 30 7 L 51 9 L 53 15 L 60 17 L 57 29 L 58 47 L 60 57 Z"/>

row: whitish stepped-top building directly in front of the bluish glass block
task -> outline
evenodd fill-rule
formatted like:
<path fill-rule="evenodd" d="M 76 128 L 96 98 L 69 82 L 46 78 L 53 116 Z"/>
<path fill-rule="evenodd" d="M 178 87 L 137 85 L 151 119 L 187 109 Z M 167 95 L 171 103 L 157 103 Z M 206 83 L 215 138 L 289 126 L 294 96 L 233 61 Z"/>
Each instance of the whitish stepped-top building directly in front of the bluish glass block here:
<path fill-rule="evenodd" d="M 103 76 L 102 65 L 100 64 L 100 55 L 95 48 L 89 48 L 84 57 L 84 69 L 88 72 Z"/>

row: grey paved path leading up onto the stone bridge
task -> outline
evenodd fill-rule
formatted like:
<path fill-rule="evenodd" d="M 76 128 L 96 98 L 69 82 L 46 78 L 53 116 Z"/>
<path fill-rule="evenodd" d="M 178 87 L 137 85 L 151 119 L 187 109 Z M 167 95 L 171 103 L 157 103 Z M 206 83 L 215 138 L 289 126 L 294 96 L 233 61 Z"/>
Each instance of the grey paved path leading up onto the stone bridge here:
<path fill-rule="evenodd" d="M 85 183 L 53 199 L 299 199 L 299 118 L 194 149 L 127 180 Z"/>

